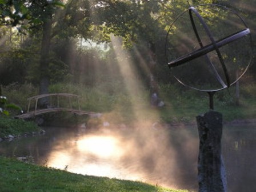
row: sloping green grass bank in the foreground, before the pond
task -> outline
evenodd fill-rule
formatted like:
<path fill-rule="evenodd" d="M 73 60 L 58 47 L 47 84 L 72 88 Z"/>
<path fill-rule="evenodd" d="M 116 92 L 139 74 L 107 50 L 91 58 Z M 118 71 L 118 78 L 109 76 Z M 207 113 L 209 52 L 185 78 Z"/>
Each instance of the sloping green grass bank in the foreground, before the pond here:
<path fill-rule="evenodd" d="M 0 189 L 4 191 L 186 192 L 103 177 L 73 174 L 0 156 Z"/>

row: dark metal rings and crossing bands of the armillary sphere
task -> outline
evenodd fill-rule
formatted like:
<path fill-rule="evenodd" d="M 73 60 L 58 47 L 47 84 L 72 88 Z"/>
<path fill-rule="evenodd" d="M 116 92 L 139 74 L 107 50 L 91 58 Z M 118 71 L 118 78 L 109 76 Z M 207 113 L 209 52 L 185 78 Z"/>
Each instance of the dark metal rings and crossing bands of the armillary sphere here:
<path fill-rule="evenodd" d="M 203 5 L 201 5 L 203 6 Z M 209 6 L 209 5 L 208 5 Z M 210 5 L 210 6 L 219 6 L 219 5 Z M 225 8 L 227 9 L 226 7 L 223 7 L 221 6 L 222 8 Z M 249 65 L 247 65 L 246 69 L 243 71 L 243 73 L 241 74 L 240 77 L 238 77 L 234 82 L 230 82 L 230 78 L 229 78 L 229 74 L 227 73 L 227 69 L 226 69 L 226 65 L 225 65 L 225 62 L 223 61 L 223 58 L 222 58 L 222 54 L 221 54 L 221 51 L 219 51 L 219 48 L 222 47 L 222 46 L 225 46 L 233 41 L 236 41 L 240 38 L 243 38 L 245 37 L 246 35 L 250 35 L 250 29 L 247 27 L 245 21 L 243 20 L 242 17 L 240 17 L 237 13 L 234 13 L 235 15 L 237 15 L 237 17 L 239 19 L 241 19 L 243 25 L 245 26 L 245 29 L 241 30 L 241 31 L 238 31 L 234 34 L 231 34 L 231 35 L 228 35 L 227 37 L 225 38 L 222 38 L 222 39 L 219 39 L 218 41 L 215 41 L 215 39 L 213 38 L 213 34 L 211 34 L 211 31 L 209 29 L 209 27 L 206 25 L 205 21 L 203 21 L 203 18 L 201 17 L 201 15 L 198 13 L 197 9 L 195 9 L 195 7 L 191 6 L 189 7 L 188 10 L 185 10 L 183 11 L 183 13 L 181 13 L 176 19 L 175 21 L 170 25 L 170 29 L 167 33 L 167 36 L 166 36 L 166 42 L 167 42 L 167 38 L 168 38 L 168 35 L 169 35 L 169 32 L 171 30 L 171 28 L 173 27 L 174 23 L 177 21 L 177 19 L 179 17 L 181 17 L 181 15 L 183 15 L 184 13 L 186 13 L 187 11 L 189 11 L 189 17 L 190 17 L 190 22 L 192 24 L 192 27 L 193 27 L 193 31 L 194 31 L 194 34 L 197 38 L 197 41 L 199 43 L 199 46 L 200 48 L 189 53 L 189 54 L 186 54 L 186 55 L 183 55 L 182 57 L 179 57 L 177 59 L 174 59 L 173 61 L 171 62 L 167 62 L 168 63 L 168 66 L 170 68 L 173 68 L 173 67 L 176 67 L 176 66 L 179 66 L 179 65 L 182 65 L 186 62 L 189 62 L 195 58 L 198 58 L 198 57 L 201 57 L 202 55 L 205 55 L 206 56 L 206 61 L 208 63 L 208 65 L 210 66 L 211 70 L 213 70 L 213 73 L 215 75 L 215 78 L 218 80 L 218 82 L 222 85 L 221 88 L 219 89 L 211 89 L 211 90 L 206 90 L 206 89 L 198 89 L 196 87 L 192 87 L 192 86 L 189 86 L 189 85 L 186 85 L 185 83 L 183 83 L 181 81 L 181 79 L 178 79 L 177 77 L 175 77 L 177 79 L 177 81 L 179 83 L 181 83 L 182 85 L 184 86 L 187 86 L 187 87 L 190 87 L 191 89 L 195 89 L 195 90 L 199 90 L 199 91 L 207 91 L 207 92 L 215 92 L 215 91 L 219 91 L 219 90 L 223 90 L 223 89 L 226 89 L 227 87 L 229 87 L 230 85 L 233 85 L 235 82 L 237 82 L 242 76 L 243 74 L 245 74 L 245 72 L 247 71 L 249 65 L 250 65 L 250 62 L 251 62 L 251 58 L 250 58 L 250 62 L 249 62 Z M 198 30 L 197 30 L 197 27 L 195 26 L 195 22 L 194 22 L 194 17 L 193 17 L 193 13 L 196 15 L 196 17 L 199 19 L 200 23 L 202 24 L 203 26 L 203 29 L 205 30 L 207 36 L 209 37 L 211 43 L 209 43 L 208 45 L 203 45 L 202 41 L 201 41 L 201 37 L 199 36 L 198 34 Z M 250 41 L 251 41 L 251 35 L 250 35 Z M 166 49 L 165 49 L 166 50 Z M 218 71 L 215 69 L 215 66 L 213 65 L 213 63 L 210 61 L 210 58 L 208 57 L 207 53 L 210 53 L 211 51 L 216 51 L 217 55 L 218 55 L 218 58 L 219 58 L 219 61 L 221 63 L 221 67 L 222 67 L 222 70 L 223 70 L 223 73 L 225 75 L 225 82 L 223 81 L 223 79 L 221 78 L 221 75 L 219 75 Z M 167 59 L 167 57 L 166 57 Z"/>

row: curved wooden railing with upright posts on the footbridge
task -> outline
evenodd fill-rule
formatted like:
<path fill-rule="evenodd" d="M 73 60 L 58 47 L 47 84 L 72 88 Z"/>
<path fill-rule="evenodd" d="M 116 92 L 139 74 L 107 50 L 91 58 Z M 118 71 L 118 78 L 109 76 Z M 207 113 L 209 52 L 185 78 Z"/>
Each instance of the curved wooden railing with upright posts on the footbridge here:
<path fill-rule="evenodd" d="M 68 99 L 68 105 L 69 105 L 69 108 L 70 109 L 73 109 L 73 105 L 72 105 L 72 102 L 76 102 L 77 105 L 78 105 L 78 110 L 80 110 L 80 103 L 79 103 L 79 96 L 78 95 L 75 95 L 75 94 L 69 94 L 69 93 L 51 93 L 51 94 L 42 94 L 42 95 L 35 95 L 33 97 L 30 97 L 28 98 L 27 100 L 29 101 L 28 103 L 28 106 L 27 106 L 27 113 L 29 113 L 31 111 L 31 103 L 33 101 L 35 101 L 35 106 L 34 106 L 34 111 L 37 111 L 38 110 L 38 101 L 39 99 L 42 99 L 42 98 L 47 98 L 49 97 L 49 103 L 47 108 L 60 108 L 62 107 L 61 106 L 61 98 L 67 98 Z M 57 103 L 56 102 L 53 102 L 53 100 L 57 99 Z M 75 101 L 74 101 L 75 99 Z"/>

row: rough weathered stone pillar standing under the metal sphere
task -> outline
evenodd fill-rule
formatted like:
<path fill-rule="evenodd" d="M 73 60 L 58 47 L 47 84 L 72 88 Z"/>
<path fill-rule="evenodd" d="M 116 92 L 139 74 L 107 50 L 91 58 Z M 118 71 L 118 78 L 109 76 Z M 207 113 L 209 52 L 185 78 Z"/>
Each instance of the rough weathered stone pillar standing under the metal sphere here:
<path fill-rule="evenodd" d="M 226 192 L 226 174 L 221 155 L 222 114 L 209 111 L 197 116 L 199 132 L 199 192 Z"/>

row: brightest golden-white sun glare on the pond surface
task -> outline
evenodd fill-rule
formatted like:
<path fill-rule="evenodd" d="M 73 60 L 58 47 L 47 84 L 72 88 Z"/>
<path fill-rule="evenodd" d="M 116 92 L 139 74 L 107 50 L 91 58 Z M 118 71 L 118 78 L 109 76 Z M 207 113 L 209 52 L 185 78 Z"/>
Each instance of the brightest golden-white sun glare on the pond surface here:
<path fill-rule="evenodd" d="M 122 167 L 125 147 L 109 135 L 83 135 L 77 141 L 59 142 L 51 151 L 47 166 L 72 173 L 130 180 L 143 180 L 141 173 Z"/>

